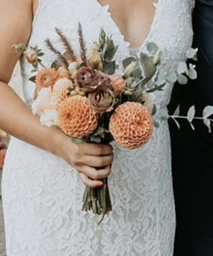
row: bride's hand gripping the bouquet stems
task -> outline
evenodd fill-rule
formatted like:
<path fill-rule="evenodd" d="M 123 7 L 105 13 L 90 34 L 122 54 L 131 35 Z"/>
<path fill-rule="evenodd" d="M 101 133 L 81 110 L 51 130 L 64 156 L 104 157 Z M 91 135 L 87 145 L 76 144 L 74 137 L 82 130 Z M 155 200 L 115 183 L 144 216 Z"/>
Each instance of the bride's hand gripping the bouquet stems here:
<path fill-rule="evenodd" d="M 88 144 L 82 142 L 75 144 L 71 138 L 62 135 L 58 141 L 56 155 L 62 157 L 67 163 L 79 172 L 82 182 L 90 187 L 102 186 L 100 179 L 105 178 L 111 171 L 113 151 L 111 145 Z"/>

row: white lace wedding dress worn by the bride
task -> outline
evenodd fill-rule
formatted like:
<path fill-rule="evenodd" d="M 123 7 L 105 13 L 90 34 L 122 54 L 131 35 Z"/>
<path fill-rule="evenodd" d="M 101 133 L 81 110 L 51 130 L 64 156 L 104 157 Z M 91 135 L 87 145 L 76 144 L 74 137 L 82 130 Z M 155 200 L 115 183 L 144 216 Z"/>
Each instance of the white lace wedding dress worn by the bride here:
<path fill-rule="evenodd" d="M 164 70 L 172 69 L 191 46 L 193 0 L 159 0 L 149 41 L 162 49 Z M 55 27 L 78 52 L 78 22 L 87 45 L 100 27 L 119 45 L 116 61 L 129 54 L 129 43 L 113 21 L 108 6 L 97 0 L 40 0 L 29 45 L 45 51 L 46 66 L 55 59 L 44 40 L 59 46 Z M 23 93 L 32 103 L 31 66 L 21 60 Z M 154 93 L 166 109 L 172 84 Z M 114 146 L 109 176 L 113 210 L 100 216 L 82 212 L 84 185 L 60 158 L 15 138 L 11 139 L 3 172 L 3 204 L 7 256 L 172 256 L 175 212 L 172 196 L 170 140 L 161 121 L 149 142 L 135 150 Z"/>

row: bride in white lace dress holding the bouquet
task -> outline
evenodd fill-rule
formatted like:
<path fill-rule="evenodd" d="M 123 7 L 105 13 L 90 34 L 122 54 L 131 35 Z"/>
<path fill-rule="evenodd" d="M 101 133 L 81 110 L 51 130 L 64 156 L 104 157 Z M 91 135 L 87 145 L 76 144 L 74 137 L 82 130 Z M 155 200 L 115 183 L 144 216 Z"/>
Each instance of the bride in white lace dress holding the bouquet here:
<path fill-rule="evenodd" d="M 14 136 L 2 181 L 7 256 L 172 256 L 175 212 L 167 122 L 160 121 L 139 149 L 113 143 L 110 172 L 110 146 L 79 146 L 59 129 L 40 125 L 6 84 L 18 58 L 12 44 L 37 45 L 49 66 L 55 55 L 47 50 L 45 39 L 57 46 L 54 29 L 60 28 L 78 51 L 79 22 L 88 46 L 97 40 L 101 27 L 112 35 L 119 45 L 118 63 L 130 54 L 130 47 L 138 52 L 147 42 L 155 42 L 162 50 L 162 68 L 172 69 L 191 47 L 193 4 L 0 0 L 0 127 Z M 30 106 L 31 67 L 24 58 L 20 62 L 23 94 Z M 172 84 L 167 84 L 153 94 L 160 109 L 166 109 L 171 90 Z M 101 166 L 105 168 L 93 168 Z M 98 186 L 107 175 L 113 210 L 97 225 L 100 216 L 81 210 L 83 183 Z"/>

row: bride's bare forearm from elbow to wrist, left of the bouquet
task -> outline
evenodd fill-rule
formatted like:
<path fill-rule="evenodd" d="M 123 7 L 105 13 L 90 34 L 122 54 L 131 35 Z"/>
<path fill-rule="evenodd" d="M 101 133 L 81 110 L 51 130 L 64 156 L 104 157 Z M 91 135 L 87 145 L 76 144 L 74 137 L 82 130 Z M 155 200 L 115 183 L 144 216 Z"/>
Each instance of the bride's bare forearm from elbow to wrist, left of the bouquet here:
<path fill-rule="evenodd" d="M 47 151 L 55 152 L 58 129 L 42 125 L 39 116 L 6 83 L 0 82 L 0 128 L 8 134 Z"/>

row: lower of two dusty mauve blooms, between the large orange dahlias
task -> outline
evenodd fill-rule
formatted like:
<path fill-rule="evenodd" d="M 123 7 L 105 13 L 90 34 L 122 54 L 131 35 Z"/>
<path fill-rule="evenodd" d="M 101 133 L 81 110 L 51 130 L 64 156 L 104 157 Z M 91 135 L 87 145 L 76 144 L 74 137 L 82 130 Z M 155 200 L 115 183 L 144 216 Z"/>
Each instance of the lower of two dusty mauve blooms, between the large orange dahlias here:
<path fill-rule="evenodd" d="M 114 94 L 109 88 L 98 87 L 93 93 L 88 96 L 90 106 L 97 113 L 104 113 L 111 111 L 115 103 Z"/>

